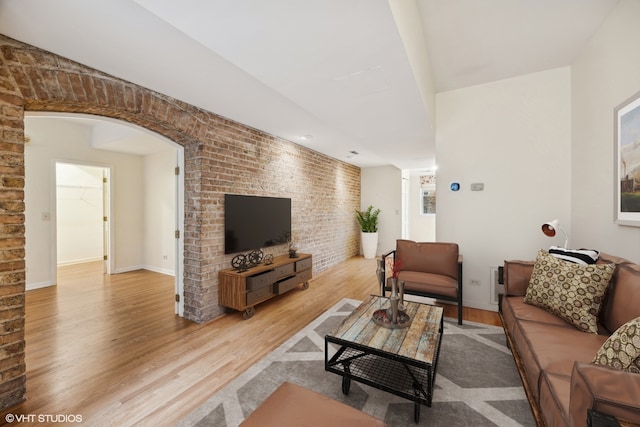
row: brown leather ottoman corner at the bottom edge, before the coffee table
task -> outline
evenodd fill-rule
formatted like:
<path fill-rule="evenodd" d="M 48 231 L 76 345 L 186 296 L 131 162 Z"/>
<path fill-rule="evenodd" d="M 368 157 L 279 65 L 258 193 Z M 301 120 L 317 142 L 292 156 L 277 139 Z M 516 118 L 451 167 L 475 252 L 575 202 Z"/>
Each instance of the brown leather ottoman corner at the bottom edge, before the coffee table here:
<path fill-rule="evenodd" d="M 368 427 L 384 426 L 385 423 L 315 391 L 284 382 L 240 425 L 242 427 Z"/>

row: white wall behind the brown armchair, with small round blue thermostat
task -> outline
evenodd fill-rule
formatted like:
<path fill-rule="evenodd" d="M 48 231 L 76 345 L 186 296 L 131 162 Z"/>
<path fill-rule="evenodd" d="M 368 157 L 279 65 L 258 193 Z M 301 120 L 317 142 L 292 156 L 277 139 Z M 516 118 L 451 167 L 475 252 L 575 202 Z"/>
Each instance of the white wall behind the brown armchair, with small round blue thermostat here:
<path fill-rule="evenodd" d="M 571 233 L 570 88 L 567 67 L 437 96 L 437 240 L 460 245 L 465 306 L 496 310 L 490 268 L 563 243 L 545 221 Z"/>

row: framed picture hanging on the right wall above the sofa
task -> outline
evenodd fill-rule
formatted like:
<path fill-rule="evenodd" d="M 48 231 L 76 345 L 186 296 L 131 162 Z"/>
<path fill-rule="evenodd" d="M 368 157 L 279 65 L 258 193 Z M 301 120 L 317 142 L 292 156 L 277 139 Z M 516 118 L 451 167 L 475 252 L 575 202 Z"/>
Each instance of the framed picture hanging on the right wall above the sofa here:
<path fill-rule="evenodd" d="M 640 92 L 614 110 L 615 222 L 640 227 Z"/>

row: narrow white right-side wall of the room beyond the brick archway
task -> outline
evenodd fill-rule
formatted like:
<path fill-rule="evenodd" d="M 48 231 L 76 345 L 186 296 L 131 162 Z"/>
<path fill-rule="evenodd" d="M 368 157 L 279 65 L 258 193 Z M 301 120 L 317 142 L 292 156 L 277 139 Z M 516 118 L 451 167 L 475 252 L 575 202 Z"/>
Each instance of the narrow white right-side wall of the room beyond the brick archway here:
<path fill-rule="evenodd" d="M 144 157 L 143 257 L 148 270 L 171 274 L 176 263 L 176 150 Z"/>

